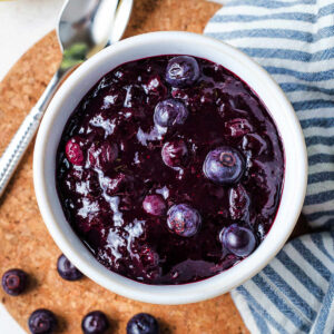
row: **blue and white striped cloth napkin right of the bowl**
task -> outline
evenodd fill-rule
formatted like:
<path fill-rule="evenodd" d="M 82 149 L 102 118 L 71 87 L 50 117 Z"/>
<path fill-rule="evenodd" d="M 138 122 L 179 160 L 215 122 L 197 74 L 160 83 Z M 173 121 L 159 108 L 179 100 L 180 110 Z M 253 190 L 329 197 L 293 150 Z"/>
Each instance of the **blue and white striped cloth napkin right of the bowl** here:
<path fill-rule="evenodd" d="M 303 214 L 314 229 L 232 296 L 252 333 L 334 333 L 334 0 L 224 2 L 205 33 L 253 57 L 292 101 L 308 151 Z"/>

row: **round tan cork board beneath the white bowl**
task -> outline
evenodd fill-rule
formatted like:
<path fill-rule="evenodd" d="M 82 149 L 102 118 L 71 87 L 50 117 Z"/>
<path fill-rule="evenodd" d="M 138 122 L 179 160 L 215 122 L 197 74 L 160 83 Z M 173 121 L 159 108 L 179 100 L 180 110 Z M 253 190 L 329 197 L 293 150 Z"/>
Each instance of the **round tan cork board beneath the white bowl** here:
<path fill-rule="evenodd" d="M 202 32 L 219 8 L 204 0 L 137 0 L 126 37 L 156 30 Z M 0 84 L 0 153 L 36 104 L 60 61 L 55 32 L 33 46 Z M 27 293 L 10 297 L 0 289 L 1 302 L 28 331 L 27 320 L 39 307 L 52 310 L 61 333 L 80 333 L 82 316 L 104 311 L 112 333 L 126 333 L 126 323 L 138 312 L 154 314 L 161 333 L 247 333 L 228 294 L 181 306 L 157 306 L 112 294 L 88 278 L 66 282 L 56 271 L 60 250 L 46 229 L 32 185 L 30 146 L 13 180 L 0 199 L 0 268 L 19 267 L 31 276 Z M 0 331 L 1 332 L 1 331 Z M 111 333 L 110 332 L 110 333 Z"/>

